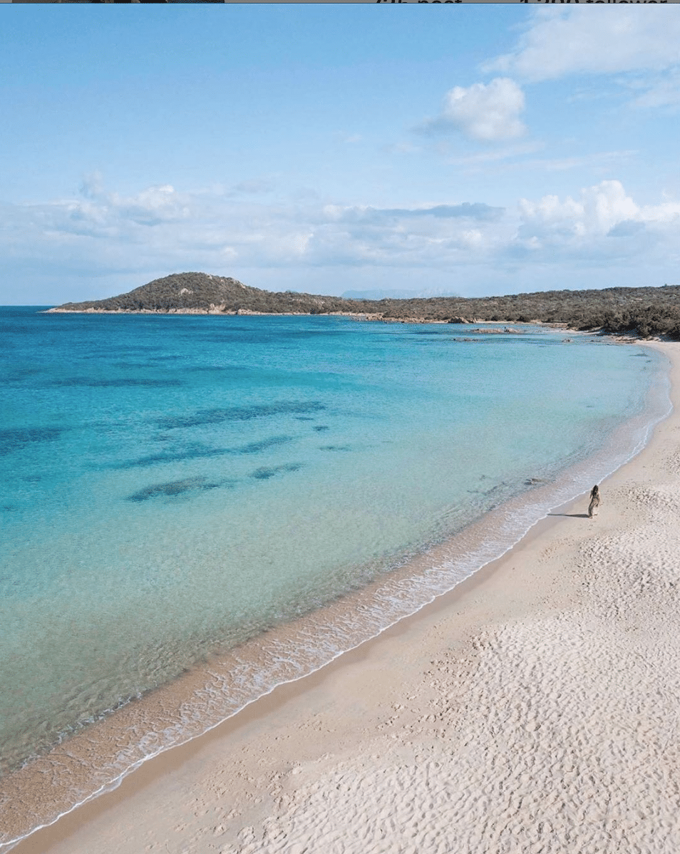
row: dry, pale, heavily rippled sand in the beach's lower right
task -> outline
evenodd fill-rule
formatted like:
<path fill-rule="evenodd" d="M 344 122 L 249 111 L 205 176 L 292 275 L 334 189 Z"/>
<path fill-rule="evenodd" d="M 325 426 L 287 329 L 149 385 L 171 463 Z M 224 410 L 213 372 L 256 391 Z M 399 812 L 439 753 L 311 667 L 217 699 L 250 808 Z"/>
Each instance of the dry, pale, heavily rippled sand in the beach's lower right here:
<path fill-rule="evenodd" d="M 396 710 L 367 753 L 292 769 L 271 815 L 216 850 L 680 851 L 677 496 L 622 492 L 647 521 L 565 567 L 579 606 L 437 660 L 415 716 Z"/>

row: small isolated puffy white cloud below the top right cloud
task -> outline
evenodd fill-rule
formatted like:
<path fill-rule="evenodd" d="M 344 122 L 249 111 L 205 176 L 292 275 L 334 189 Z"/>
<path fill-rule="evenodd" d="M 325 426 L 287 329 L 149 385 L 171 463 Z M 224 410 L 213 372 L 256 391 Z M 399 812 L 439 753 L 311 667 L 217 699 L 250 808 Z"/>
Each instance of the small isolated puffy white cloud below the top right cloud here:
<path fill-rule="evenodd" d="M 444 98 L 442 112 L 420 130 L 429 133 L 457 130 L 487 142 L 512 139 L 526 130 L 519 120 L 524 108 L 524 92 L 507 77 L 467 88 L 454 86 Z"/>

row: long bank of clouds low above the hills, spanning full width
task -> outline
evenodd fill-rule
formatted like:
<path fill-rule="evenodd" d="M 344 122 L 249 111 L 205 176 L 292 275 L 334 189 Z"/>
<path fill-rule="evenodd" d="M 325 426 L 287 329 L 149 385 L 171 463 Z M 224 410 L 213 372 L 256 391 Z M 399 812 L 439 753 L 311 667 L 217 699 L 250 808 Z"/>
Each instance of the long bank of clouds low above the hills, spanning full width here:
<path fill-rule="evenodd" d="M 108 276 L 131 287 L 148 280 L 146 271 L 208 270 L 273 290 L 295 288 L 297 275 L 312 290 L 335 278 L 343 283 L 337 292 L 362 269 L 372 270 L 376 281 L 382 276 L 381 286 L 390 284 L 388 270 L 401 271 L 409 282 L 420 276 L 423 286 L 437 280 L 451 287 L 451 275 L 460 291 L 467 278 L 479 282 L 486 271 L 485 287 L 496 292 L 503 271 L 524 271 L 524 279 L 504 285 L 512 292 L 527 290 L 536 265 L 549 266 L 554 282 L 588 263 L 602 271 L 600 284 L 615 284 L 618 262 L 628 277 L 636 269 L 656 269 L 663 282 L 672 280 L 680 260 L 680 203 L 641 204 L 615 180 L 508 208 L 237 201 L 169 184 L 132 195 L 109 192 L 97 181 L 88 188 L 73 199 L 0 207 L 3 270 L 67 272 L 83 282 Z M 428 270 L 439 271 L 439 278 L 426 277 Z M 365 281 L 371 286 L 370 278 Z"/>

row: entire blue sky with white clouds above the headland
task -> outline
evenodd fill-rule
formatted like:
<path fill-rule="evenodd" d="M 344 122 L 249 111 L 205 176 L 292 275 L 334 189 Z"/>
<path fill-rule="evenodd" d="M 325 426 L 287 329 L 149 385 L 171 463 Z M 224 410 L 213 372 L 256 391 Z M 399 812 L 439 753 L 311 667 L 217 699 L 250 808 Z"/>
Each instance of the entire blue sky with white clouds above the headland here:
<path fill-rule="evenodd" d="M 3 4 L 0 304 L 680 284 L 680 5 Z"/>

